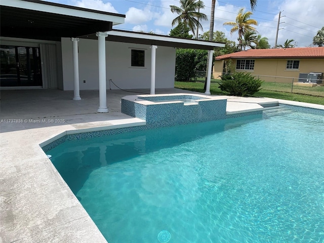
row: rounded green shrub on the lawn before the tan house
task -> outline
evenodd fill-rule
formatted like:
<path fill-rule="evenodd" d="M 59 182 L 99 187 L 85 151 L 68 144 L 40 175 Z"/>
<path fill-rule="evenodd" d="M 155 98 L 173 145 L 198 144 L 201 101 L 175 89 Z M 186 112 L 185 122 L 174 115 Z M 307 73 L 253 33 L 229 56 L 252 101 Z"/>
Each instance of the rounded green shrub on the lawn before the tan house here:
<path fill-rule="evenodd" d="M 229 95 L 249 96 L 261 90 L 262 80 L 250 73 L 236 72 L 230 76 L 221 76 L 221 78 L 219 88 Z"/>

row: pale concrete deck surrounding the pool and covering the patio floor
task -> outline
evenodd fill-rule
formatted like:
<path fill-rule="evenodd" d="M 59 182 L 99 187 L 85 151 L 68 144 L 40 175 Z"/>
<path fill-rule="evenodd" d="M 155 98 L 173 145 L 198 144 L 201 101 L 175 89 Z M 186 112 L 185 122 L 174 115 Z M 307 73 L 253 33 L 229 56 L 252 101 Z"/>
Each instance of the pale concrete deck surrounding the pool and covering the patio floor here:
<path fill-rule="evenodd" d="M 195 92 L 157 89 L 156 93 Z M 108 90 L 109 113 L 96 113 L 98 91 L 81 91 L 80 101 L 72 100 L 72 91 L 1 91 L 0 243 L 107 242 L 39 144 L 65 131 L 145 125 L 145 121 L 120 112 L 121 97 L 130 94 L 136 93 Z M 269 103 L 324 110 L 322 105 L 294 101 L 226 98 L 228 113 L 260 109 L 260 104 Z"/>

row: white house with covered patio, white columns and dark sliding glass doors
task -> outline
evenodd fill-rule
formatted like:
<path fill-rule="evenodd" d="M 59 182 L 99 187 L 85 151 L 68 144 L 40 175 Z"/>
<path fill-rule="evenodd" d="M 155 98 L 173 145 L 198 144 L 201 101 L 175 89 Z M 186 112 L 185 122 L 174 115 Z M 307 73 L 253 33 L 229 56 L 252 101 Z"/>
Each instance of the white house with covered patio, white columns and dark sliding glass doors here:
<path fill-rule="evenodd" d="M 174 88 L 176 48 L 224 44 L 114 30 L 125 15 L 39 0 L 0 2 L 1 89 Z M 212 59 L 210 60 L 212 63 Z M 110 80 L 112 82 L 110 82 Z M 71 97 L 72 98 L 72 97 Z"/>

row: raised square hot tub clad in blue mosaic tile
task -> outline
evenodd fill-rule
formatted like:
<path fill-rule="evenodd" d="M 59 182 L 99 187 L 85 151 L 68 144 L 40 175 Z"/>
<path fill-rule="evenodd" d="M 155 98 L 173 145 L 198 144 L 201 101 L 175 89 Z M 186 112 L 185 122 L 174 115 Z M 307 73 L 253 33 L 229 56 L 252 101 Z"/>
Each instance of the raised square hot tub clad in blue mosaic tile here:
<path fill-rule="evenodd" d="M 226 98 L 198 94 L 131 95 L 121 98 L 121 112 L 151 127 L 200 123 L 226 118 Z"/>

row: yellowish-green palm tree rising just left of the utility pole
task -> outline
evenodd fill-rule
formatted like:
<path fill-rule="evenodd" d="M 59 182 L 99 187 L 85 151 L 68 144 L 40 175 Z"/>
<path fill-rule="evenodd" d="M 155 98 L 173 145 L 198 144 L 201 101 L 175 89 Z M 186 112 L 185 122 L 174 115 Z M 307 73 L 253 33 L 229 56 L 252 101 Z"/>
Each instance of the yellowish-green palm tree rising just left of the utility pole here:
<path fill-rule="evenodd" d="M 244 8 L 240 9 L 237 13 L 235 22 L 225 22 L 223 25 L 231 25 L 230 32 L 233 34 L 234 32 L 238 32 L 238 45 L 242 45 L 242 36 L 245 34 L 247 30 L 256 31 L 254 27 L 251 25 L 258 25 L 258 22 L 254 19 L 250 19 L 252 12 L 248 11 L 243 13 Z"/>

